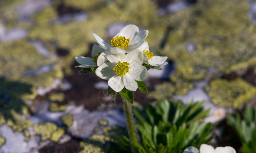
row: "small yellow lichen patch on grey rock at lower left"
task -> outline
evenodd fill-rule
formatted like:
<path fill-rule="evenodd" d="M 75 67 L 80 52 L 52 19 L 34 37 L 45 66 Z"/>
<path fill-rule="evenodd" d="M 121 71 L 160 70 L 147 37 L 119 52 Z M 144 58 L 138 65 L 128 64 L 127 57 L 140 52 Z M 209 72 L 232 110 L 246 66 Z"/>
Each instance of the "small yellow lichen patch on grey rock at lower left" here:
<path fill-rule="evenodd" d="M 64 129 L 57 127 L 52 122 L 45 122 L 33 125 L 35 133 L 41 136 L 41 140 L 51 140 L 57 142 L 65 133 Z"/>

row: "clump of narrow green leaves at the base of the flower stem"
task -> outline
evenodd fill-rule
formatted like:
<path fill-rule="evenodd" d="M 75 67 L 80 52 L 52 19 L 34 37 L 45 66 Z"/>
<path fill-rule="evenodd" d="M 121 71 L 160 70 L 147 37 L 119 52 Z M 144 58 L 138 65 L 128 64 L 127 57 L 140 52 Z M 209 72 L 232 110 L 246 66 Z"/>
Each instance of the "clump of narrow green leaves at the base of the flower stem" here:
<path fill-rule="evenodd" d="M 188 146 L 199 147 L 212 139 L 211 124 L 200 123 L 209 113 L 203 111 L 202 102 L 182 106 L 181 101 L 160 100 L 146 112 L 147 119 L 135 111 L 141 122 L 137 125 L 142 142 L 140 152 L 182 152 Z M 120 137 L 117 145 L 130 151 L 127 137 Z"/>

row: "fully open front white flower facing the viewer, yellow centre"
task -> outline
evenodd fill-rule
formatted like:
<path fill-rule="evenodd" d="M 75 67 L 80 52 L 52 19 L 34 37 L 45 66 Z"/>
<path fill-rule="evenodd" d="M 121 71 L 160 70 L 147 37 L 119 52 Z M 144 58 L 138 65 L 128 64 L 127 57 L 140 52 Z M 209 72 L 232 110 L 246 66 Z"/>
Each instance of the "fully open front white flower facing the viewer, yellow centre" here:
<path fill-rule="evenodd" d="M 142 66 L 142 53 L 140 50 L 133 50 L 126 54 L 119 47 L 106 49 L 108 62 L 100 65 L 95 73 L 98 77 L 108 80 L 108 85 L 114 91 L 120 92 L 124 87 L 130 91 L 138 88 L 136 81 L 143 81 L 148 78 L 147 69 Z"/>

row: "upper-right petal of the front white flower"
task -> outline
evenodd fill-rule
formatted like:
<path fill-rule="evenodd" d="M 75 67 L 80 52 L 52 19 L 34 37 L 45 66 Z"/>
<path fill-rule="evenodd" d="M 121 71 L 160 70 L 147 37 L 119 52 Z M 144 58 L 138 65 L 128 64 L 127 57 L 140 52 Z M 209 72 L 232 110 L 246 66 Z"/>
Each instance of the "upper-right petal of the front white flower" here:
<path fill-rule="evenodd" d="M 140 50 L 133 50 L 125 56 L 125 61 L 130 63 L 130 66 L 134 64 L 142 65 L 143 53 Z"/>

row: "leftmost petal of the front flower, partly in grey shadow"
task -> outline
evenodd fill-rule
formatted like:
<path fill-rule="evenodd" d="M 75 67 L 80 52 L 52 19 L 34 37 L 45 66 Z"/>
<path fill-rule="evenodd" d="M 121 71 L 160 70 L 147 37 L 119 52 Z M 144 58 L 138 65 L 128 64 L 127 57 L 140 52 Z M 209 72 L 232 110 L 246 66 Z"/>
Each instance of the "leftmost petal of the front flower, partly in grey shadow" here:
<path fill-rule="evenodd" d="M 95 70 L 95 74 L 101 79 L 109 80 L 113 76 L 116 76 L 115 71 L 113 70 L 114 66 L 115 65 L 110 62 L 103 63 Z"/>

